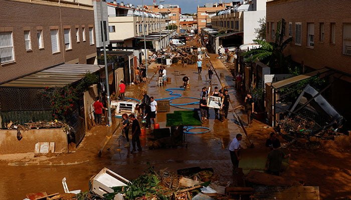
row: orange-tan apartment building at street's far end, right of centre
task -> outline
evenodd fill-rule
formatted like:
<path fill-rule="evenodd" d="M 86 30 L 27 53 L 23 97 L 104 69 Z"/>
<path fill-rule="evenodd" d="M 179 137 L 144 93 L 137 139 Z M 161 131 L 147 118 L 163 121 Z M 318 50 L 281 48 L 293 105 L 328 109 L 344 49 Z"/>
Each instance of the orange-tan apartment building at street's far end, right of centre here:
<path fill-rule="evenodd" d="M 211 23 L 211 17 L 216 16 L 217 11 L 225 9 L 232 3 L 206 3 L 205 6 L 198 6 L 198 29 L 206 27 Z"/>

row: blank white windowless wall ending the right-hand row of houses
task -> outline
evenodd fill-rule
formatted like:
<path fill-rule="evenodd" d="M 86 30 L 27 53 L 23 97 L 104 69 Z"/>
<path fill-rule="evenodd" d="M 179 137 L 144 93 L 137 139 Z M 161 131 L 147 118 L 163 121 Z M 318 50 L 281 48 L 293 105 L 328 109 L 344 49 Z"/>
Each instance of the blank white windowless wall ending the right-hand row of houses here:
<path fill-rule="evenodd" d="M 245 11 L 244 14 L 244 44 L 256 39 L 255 28 L 260 28 L 258 20 L 266 16 L 266 10 Z"/>

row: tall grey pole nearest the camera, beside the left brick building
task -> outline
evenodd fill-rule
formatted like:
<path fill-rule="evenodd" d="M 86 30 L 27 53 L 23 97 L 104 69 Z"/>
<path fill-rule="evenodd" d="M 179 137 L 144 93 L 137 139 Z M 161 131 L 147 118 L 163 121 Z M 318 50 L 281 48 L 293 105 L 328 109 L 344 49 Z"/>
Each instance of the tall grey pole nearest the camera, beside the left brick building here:
<path fill-rule="evenodd" d="M 108 83 L 108 68 L 107 68 L 106 43 L 105 43 L 105 26 L 104 26 L 104 15 L 102 14 L 102 0 L 100 0 L 100 13 L 101 13 L 102 43 L 104 45 L 104 62 L 105 62 L 106 91 L 107 91 L 108 124 L 112 125 L 110 86 Z M 105 120 L 106 120 L 106 117 L 105 117 Z"/>

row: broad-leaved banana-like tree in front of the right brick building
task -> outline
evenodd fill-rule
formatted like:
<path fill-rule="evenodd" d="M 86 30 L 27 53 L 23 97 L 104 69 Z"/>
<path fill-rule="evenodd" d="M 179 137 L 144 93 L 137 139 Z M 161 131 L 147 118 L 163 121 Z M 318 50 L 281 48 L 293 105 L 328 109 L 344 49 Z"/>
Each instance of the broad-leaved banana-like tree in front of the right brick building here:
<path fill-rule="evenodd" d="M 282 21 L 278 21 L 277 30 L 275 32 L 275 41 L 267 42 L 261 39 L 254 39 L 255 42 L 261 45 L 256 49 L 244 53 L 245 56 L 249 56 L 246 62 L 257 61 L 267 64 L 271 67 L 272 72 L 288 72 L 291 65 L 290 55 L 285 56 L 283 51 L 287 44 L 292 40 L 291 37 L 284 40 L 284 31 L 281 30 Z"/>

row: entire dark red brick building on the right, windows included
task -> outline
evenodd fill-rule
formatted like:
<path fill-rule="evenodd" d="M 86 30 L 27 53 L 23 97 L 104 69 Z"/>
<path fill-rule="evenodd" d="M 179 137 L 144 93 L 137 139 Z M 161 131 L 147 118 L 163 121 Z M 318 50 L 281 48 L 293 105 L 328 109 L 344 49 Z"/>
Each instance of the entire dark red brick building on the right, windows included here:
<path fill-rule="evenodd" d="M 323 95 L 349 119 L 351 100 L 351 1 L 271 0 L 267 2 L 267 41 L 274 41 L 277 22 L 285 20 L 285 39 L 292 42 L 284 54 L 304 71 L 329 68 L 330 89 Z"/>

